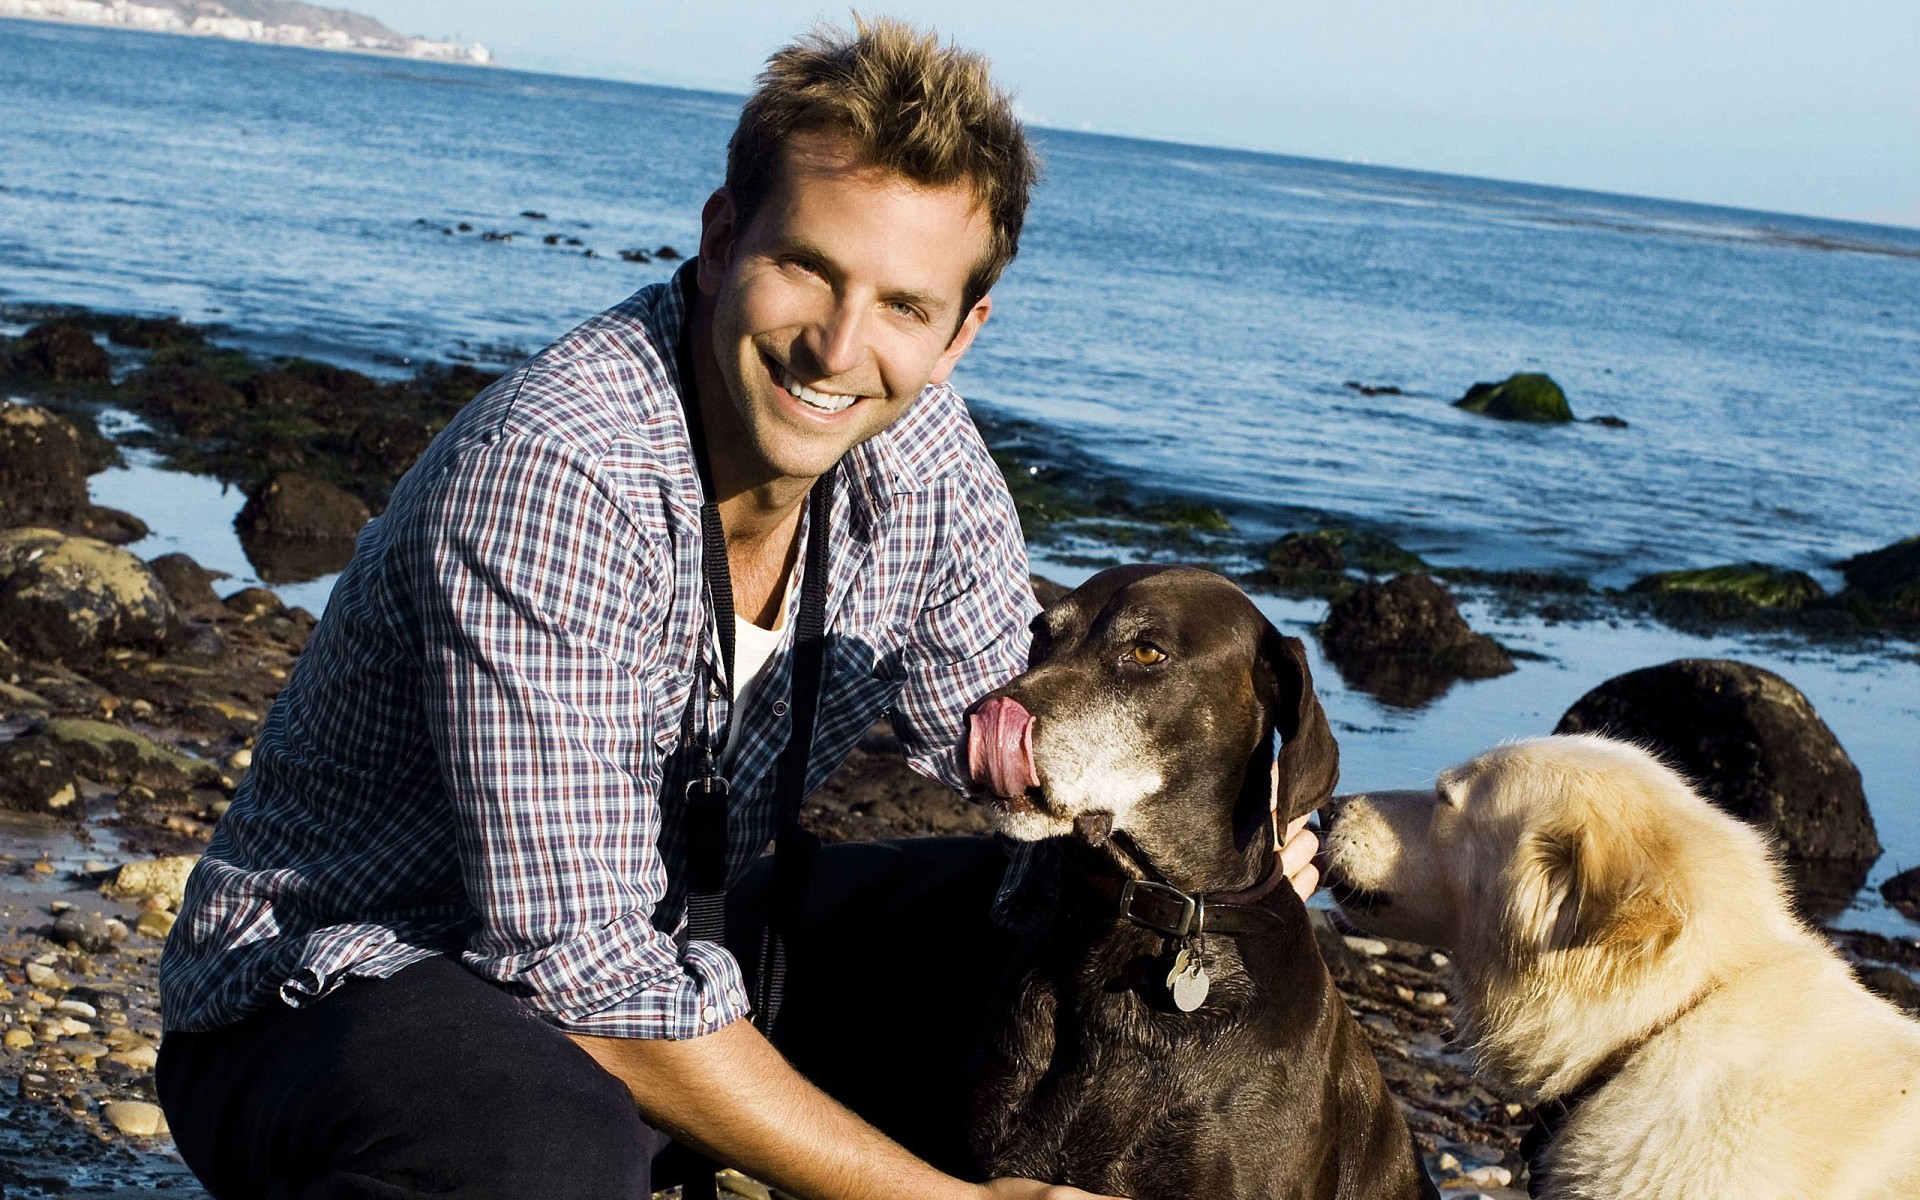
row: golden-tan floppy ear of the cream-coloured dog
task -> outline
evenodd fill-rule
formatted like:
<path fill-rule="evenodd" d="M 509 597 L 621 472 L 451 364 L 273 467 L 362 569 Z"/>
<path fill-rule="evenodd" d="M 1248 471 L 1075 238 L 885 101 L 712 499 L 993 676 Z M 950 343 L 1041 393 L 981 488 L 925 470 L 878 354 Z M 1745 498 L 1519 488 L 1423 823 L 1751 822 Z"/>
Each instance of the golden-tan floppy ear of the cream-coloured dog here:
<path fill-rule="evenodd" d="M 1528 833 L 1511 866 L 1507 933 L 1523 956 L 1605 947 L 1620 966 L 1659 954 L 1680 935 L 1672 889 L 1632 845 L 1592 829 Z"/>

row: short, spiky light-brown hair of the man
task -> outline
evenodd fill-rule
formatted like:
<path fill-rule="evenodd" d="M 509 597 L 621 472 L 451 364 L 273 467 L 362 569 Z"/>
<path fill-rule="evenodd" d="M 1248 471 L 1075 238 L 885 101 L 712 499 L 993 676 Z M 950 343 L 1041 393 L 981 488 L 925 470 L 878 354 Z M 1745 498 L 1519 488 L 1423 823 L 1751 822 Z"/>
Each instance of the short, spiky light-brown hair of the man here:
<path fill-rule="evenodd" d="M 739 227 L 774 190 L 781 146 L 812 131 L 849 134 L 866 165 L 910 182 L 973 190 L 991 236 L 968 276 L 966 309 L 1020 252 L 1041 165 L 979 54 L 941 46 L 906 21 L 858 15 L 852 35 L 820 27 L 778 50 L 728 142 L 726 186 Z"/>

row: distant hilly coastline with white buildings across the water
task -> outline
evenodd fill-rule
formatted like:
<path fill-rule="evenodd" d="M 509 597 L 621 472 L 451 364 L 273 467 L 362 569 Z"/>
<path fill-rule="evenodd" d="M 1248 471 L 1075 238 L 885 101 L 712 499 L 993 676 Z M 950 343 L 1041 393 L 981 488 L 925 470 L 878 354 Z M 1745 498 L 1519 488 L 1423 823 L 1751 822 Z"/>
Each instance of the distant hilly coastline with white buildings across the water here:
<path fill-rule="evenodd" d="M 495 67 L 499 61 L 480 42 L 417 38 L 394 33 L 372 17 L 296 0 L 0 0 L 0 17 L 111 25 L 213 36 L 234 42 L 386 54 L 426 61 Z"/>

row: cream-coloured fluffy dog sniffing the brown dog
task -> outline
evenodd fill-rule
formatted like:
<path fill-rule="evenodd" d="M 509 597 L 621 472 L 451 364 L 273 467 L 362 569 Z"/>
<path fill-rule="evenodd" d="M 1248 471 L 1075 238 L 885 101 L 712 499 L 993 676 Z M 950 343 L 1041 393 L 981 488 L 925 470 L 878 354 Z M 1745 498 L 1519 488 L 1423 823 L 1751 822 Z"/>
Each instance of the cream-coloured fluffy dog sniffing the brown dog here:
<path fill-rule="evenodd" d="M 1453 950 L 1486 1069 L 1536 1102 L 1619 1071 L 1538 1196 L 1920 1196 L 1920 1023 L 1791 916 L 1757 831 L 1645 751 L 1540 737 L 1336 812 L 1348 916 Z"/>

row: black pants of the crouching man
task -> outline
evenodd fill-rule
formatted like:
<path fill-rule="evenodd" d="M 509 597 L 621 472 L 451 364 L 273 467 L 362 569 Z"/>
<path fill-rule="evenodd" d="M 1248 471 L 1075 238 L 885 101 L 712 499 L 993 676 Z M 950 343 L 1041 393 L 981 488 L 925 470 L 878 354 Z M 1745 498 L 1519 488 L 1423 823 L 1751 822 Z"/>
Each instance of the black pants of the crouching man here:
<path fill-rule="evenodd" d="M 758 945 L 766 866 L 728 897 L 733 947 Z M 950 1171 L 1012 954 L 987 920 L 1002 868 L 987 839 L 824 847 L 774 1029 L 808 1079 Z M 175 1144 L 219 1200 L 643 1198 L 666 1146 L 580 1046 L 451 958 L 169 1033 L 157 1083 Z"/>

